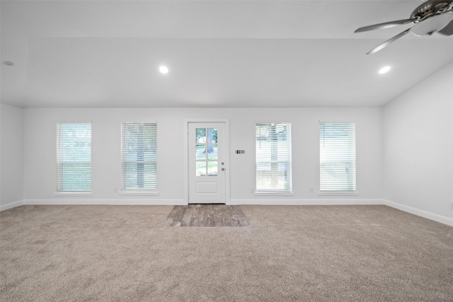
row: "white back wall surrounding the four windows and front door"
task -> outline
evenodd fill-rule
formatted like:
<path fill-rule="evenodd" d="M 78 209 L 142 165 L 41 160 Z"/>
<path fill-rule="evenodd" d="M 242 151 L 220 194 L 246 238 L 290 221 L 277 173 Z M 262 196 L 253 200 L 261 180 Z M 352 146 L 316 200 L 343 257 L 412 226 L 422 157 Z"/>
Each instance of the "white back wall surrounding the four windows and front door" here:
<path fill-rule="evenodd" d="M 25 109 L 25 202 L 178 204 L 184 199 L 183 120 L 222 117 L 230 123 L 231 203 L 377 203 L 382 198 L 381 108 L 289 109 Z M 319 196 L 319 120 L 355 122 L 357 196 Z M 93 122 L 92 197 L 54 196 L 57 122 Z M 158 123 L 158 196 L 120 195 L 120 122 Z M 293 190 L 290 197 L 258 197 L 255 123 L 292 122 Z M 245 154 L 234 153 L 236 149 Z M 314 192 L 309 188 L 314 187 Z"/>

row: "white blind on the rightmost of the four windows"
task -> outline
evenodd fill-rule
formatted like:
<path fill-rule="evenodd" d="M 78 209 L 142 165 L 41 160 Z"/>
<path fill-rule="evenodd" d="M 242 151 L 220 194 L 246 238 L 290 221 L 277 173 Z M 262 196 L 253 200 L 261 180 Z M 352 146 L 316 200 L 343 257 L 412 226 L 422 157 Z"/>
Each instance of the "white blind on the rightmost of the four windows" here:
<path fill-rule="evenodd" d="M 319 123 L 320 190 L 355 191 L 355 124 Z"/>

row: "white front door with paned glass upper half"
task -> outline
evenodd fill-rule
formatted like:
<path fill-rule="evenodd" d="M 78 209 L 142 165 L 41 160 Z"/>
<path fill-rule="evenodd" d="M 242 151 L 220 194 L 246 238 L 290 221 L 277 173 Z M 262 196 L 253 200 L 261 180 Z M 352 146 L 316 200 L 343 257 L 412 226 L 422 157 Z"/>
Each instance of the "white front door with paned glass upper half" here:
<path fill-rule="evenodd" d="M 189 122 L 190 204 L 224 204 L 226 163 L 224 122 Z"/>

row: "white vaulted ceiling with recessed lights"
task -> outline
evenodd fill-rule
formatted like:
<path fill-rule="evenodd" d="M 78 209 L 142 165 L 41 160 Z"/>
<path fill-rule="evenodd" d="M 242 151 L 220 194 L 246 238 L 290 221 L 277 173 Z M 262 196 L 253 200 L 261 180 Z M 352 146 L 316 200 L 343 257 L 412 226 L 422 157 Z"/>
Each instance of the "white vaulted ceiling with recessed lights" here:
<path fill-rule="evenodd" d="M 379 107 L 453 62 L 453 36 L 353 33 L 420 2 L 1 1 L 1 103 Z"/>

